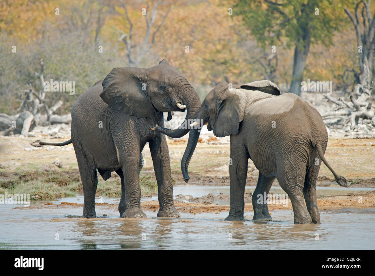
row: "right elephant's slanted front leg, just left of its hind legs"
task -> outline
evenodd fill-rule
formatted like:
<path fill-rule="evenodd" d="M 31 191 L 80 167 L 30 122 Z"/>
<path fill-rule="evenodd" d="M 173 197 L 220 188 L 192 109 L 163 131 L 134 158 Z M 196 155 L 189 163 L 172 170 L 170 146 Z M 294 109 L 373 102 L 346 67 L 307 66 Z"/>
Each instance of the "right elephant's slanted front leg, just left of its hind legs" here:
<path fill-rule="evenodd" d="M 275 177 L 264 176 L 259 172 L 257 187 L 252 196 L 252 203 L 254 209 L 253 220 L 272 220 L 267 206 L 267 195 L 270 192 L 271 186 Z"/>

